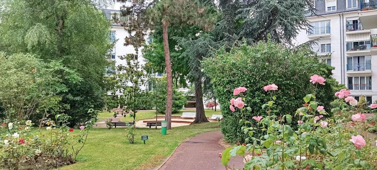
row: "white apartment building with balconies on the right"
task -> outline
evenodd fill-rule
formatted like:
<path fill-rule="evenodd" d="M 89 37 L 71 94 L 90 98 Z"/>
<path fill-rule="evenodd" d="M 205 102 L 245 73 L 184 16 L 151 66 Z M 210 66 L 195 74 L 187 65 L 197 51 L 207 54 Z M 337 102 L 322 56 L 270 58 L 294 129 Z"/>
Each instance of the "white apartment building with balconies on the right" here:
<path fill-rule="evenodd" d="M 295 44 L 317 40 L 311 49 L 335 67 L 333 77 L 368 105 L 377 100 L 377 0 L 316 0 L 311 28 L 300 30 Z M 330 55 L 329 55 L 330 54 Z"/>

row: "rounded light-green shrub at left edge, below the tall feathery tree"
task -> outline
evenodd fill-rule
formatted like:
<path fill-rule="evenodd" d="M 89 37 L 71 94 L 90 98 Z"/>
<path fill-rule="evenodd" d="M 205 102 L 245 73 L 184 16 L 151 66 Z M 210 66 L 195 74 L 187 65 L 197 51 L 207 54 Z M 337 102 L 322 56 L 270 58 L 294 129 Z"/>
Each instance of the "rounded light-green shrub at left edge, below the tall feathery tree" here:
<path fill-rule="evenodd" d="M 72 99 L 72 96 L 62 95 L 68 91 L 62 80 L 76 84 L 82 79 L 59 61 L 46 63 L 38 58 L 32 54 L 6 56 L 0 53 L 1 117 L 39 121 L 67 108 L 61 99 Z M 59 72 L 65 76 L 56 74 Z"/>

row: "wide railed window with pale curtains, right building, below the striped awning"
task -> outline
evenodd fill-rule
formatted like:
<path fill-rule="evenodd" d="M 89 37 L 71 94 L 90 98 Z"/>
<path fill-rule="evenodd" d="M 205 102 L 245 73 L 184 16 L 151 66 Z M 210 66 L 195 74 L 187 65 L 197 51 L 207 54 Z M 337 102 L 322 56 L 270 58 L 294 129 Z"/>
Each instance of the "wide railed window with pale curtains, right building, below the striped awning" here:
<path fill-rule="evenodd" d="M 347 71 L 371 70 L 371 56 L 347 57 Z"/>

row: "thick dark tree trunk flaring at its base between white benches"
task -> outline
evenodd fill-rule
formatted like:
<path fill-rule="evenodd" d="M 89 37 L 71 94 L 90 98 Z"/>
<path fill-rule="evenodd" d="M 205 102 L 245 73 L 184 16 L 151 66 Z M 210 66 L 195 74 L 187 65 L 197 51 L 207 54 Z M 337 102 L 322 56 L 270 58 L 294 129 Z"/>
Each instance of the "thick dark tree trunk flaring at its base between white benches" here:
<path fill-rule="evenodd" d="M 202 91 L 202 77 L 198 75 L 195 78 L 195 101 L 196 101 L 196 115 L 194 123 L 204 123 L 208 122 L 207 117 L 205 117 L 204 104 L 203 104 L 203 91 Z"/>

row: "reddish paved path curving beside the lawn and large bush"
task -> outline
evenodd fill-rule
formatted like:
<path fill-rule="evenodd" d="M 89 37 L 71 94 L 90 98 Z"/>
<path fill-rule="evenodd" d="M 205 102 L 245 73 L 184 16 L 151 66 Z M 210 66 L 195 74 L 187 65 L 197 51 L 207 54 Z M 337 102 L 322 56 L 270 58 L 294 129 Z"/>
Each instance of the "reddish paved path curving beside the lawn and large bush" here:
<path fill-rule="evenodd" d="M 181 143 L 159 170 L 225 170 L 219 157 L 225 149 L 219 145 L 222 137 L 220 131 L 207 132 Z M 242 169 L 243 157 L 230 159 L 229 165 Z"/>

